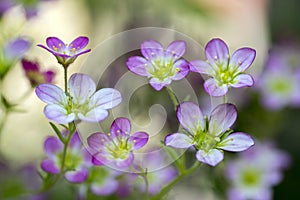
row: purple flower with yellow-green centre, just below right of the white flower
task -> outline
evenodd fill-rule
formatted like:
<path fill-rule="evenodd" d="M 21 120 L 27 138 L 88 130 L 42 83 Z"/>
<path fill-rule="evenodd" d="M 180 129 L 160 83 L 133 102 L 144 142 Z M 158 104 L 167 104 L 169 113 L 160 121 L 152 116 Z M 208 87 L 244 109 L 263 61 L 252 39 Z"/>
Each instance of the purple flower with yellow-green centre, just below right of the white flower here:
<path fill-rule="evenodd" d="M 130 134 L 131 124 L 127 118 L 117 118 L 111 125 L 110 133 L 94 133 L 88 137 L 88 145 L 93 154 L 93 163 L 102 163 L 114 168 L 129 167 L 134 160 L 133 151 L 148 142 L 148 134 Z"/>

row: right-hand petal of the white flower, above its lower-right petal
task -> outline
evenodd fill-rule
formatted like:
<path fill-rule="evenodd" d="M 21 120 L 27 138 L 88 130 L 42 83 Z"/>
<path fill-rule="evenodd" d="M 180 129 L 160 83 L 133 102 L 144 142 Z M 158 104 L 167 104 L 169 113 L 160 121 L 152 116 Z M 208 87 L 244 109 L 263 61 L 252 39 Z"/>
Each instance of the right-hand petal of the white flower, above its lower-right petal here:
<path fill-rule="evenodd" d="M 102 88 L 97 91 L 90 99 L 91 107 L 111 109 L 119 105 L 122 101 L 121 93 L 112 88 Z"/>

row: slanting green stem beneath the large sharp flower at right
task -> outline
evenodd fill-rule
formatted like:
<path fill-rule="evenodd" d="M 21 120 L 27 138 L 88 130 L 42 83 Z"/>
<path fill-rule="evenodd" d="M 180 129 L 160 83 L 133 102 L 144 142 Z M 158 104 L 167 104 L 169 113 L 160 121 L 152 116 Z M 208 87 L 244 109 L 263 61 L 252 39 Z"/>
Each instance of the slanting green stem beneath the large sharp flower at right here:
<path fill-rule="evenodd" d="M 177 176 L 173 181 L 171 181 L 168 185 L 166 185 L 160 193 L 157 195 L 153 196 L 151 199 L 152 200 L 161 200 L 163 197 L 171 190 L 171 188 L 176 185 L 179 181 L 181 181 L 185 176 L 193 173 L 198 167 L 200 166 L 200 162 L 198 160 L 195 161 L 194 165 L 189 168 L 188 170 L 182 172 L 179 176 Z"/>

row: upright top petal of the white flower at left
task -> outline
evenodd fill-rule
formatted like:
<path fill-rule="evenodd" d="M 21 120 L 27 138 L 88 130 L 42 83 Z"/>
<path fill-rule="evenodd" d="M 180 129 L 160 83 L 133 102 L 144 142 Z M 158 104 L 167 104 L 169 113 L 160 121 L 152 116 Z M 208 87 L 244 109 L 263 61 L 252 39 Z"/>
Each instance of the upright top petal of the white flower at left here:
<path fill-rule="evenodd" d="M 68 82 L 72 101 L 75 104 L 83 104 L 96 91 L 96 84 L 91 77 L 86 74 L 73 74 Z"/>

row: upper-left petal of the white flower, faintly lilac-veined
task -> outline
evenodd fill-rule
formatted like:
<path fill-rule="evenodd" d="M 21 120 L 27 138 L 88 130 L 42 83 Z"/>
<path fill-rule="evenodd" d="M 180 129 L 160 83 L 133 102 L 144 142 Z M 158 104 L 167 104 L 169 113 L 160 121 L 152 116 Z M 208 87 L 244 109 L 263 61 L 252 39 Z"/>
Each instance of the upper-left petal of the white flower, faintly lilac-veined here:
<path fill-rule="evenodd" d="M 36 95 L 45 103 L 67 105 L 68 99 L 62 89 L 52 84 L 40 84 L 35 89 Z"/>

